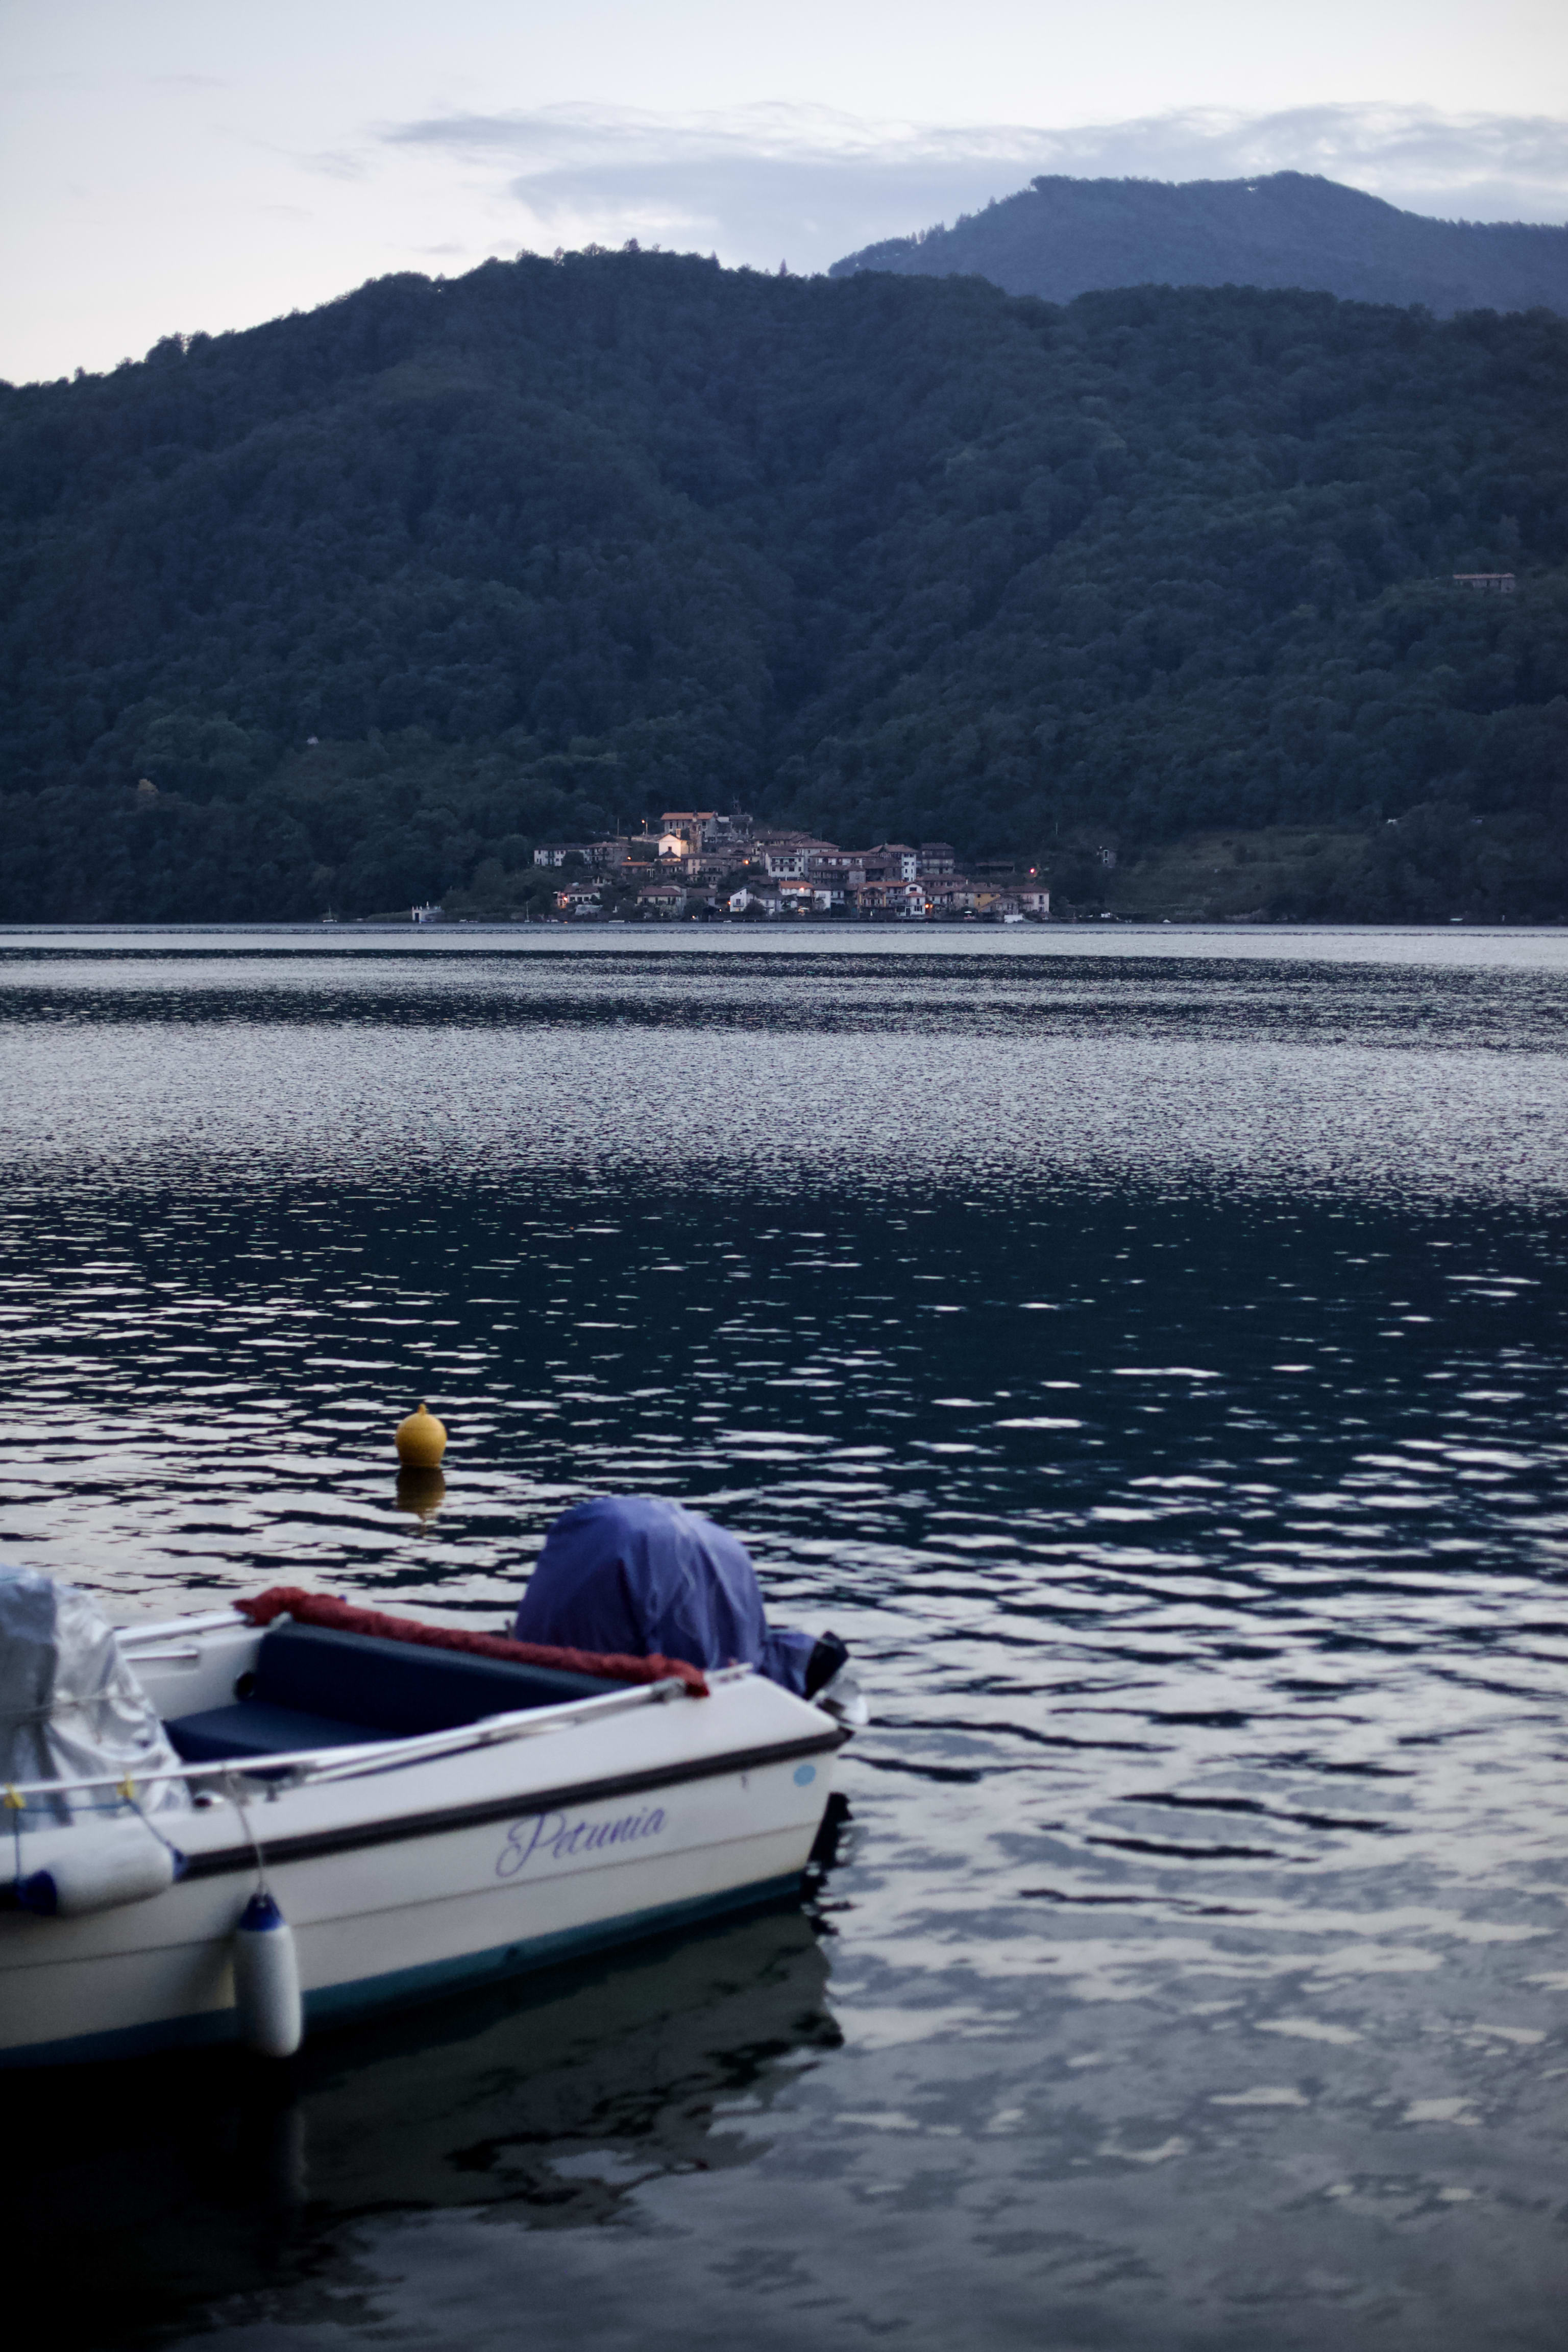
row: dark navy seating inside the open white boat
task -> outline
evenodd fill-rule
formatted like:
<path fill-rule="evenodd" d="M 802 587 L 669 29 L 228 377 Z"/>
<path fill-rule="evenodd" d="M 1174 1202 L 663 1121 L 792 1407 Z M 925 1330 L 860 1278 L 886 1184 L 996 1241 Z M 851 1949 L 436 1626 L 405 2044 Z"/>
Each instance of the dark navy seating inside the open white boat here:
<path fill-rule="evenodd" d="M 165 1724 L 186 1764 L 456 1731 L 487 1715 L 555 1708 L 623 1689 L 599 1675 L 473 1658 L 461 1649 L 423 1649 L 329 1625 L 275 1625 L 247 1679 L 247 1696 L 230 1708 Z"/>

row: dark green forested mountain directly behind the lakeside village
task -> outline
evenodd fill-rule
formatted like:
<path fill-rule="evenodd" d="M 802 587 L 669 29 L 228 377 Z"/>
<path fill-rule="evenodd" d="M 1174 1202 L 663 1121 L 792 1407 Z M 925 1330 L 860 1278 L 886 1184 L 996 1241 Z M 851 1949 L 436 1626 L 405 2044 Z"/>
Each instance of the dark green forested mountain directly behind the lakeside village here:
<path fill-rule="evenodd" d="M 5 388 L 0 913 L 503 898 L 736 800 L 1124 858 L 1420 807 L 1371 913 L 1552 913 L 1566 390 L 1542 313 L 637 252 Z"/>

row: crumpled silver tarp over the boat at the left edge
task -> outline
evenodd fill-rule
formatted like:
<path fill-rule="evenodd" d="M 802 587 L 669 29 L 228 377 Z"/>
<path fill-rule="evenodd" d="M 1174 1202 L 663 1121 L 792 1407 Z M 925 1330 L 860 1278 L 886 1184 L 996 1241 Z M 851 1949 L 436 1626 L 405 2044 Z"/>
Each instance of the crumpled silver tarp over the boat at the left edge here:
<path fill-rule="evenodd" d="M 99 1604 L 33 1569 L 0 1573 L 0 1795 L 19 1780 L 127 1773 L 143 1811 L 183 1813 L 183 1780 L 141 1785 L 143 1773 L 169 1764 L 179 1757 Z M 73 1820 L 120 1804 L 108 1788 L 31 1797 L 24 1820 Z M 7 1818 L 0 1813 L 0 1828 Z"/>

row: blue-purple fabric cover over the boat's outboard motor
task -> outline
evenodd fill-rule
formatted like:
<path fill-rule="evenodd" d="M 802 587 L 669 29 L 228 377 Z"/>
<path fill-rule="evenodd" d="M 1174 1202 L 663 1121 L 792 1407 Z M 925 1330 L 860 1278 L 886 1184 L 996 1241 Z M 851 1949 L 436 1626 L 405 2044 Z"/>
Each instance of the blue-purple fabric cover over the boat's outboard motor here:
<path fill-rule="evenodd" d="M 512 1639 L 755 1665 L 797 1693 L 816 1649 L 816 1635 L 769 1630 L 738 1536 L 646 1494 L 595 1496 L 562 1512 L 534 1564 Z"/>

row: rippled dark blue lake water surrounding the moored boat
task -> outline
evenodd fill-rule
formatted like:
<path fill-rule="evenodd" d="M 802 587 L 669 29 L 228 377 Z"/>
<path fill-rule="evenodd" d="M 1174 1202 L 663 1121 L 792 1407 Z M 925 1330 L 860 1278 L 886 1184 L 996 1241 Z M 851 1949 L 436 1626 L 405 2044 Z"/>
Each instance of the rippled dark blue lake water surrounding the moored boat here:
<path fill-rule="evenodd" d="M 804 1907 L 7 2093 L 52 2336 L 1556 2352 L 1566 1011 L 1563 934 L 0 938 L 2 1559 L 498 1628 L 675 1494 L 875 1705 Z"/>

